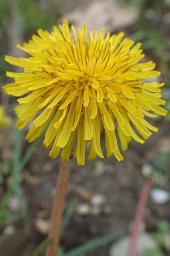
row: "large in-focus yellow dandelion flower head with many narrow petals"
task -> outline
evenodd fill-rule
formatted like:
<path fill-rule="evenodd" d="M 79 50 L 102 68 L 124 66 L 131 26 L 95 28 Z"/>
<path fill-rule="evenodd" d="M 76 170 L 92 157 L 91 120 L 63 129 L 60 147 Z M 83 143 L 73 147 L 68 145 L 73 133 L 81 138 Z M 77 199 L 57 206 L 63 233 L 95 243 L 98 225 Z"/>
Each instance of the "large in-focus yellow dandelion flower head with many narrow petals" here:
<path fill-rule="evenodd" d="M 104 158 L 101 134 L 105 135 L 107 156 L 123 159 L 118 148 L 126 150 L 130 139 L 144 143 L 158 129 L 145 119 L 166 115 L 159 82 L 144 79 L 156 77 L 152 61 L 139 63 L 141 43 L 124 38 L 124 33 L 105 36 L 104 29 L 87 36 L 86 24 L 75 31 L 66 20 L 49 33 L 39 29 L 19 49 L 31 57 L 5 60 L 24 68 L 23 73 L 7 72 L 15 81 L 3 86 L 7 94 L 19 98 L 16 127 L 33 125 L 27 139 L 34 141 L 46 129 L 44 145 L 51 147 L 49 156 L 61 151 L 67 161 L 75 144 L 78 164 L 84 165 L 86 144 L 89 158 Z M 47 128 L 46 128 L 47 127 Z M 138 133 L 138 134 L 137 134 Z M 141 135 L 141 137 L 139 137 Z"/>

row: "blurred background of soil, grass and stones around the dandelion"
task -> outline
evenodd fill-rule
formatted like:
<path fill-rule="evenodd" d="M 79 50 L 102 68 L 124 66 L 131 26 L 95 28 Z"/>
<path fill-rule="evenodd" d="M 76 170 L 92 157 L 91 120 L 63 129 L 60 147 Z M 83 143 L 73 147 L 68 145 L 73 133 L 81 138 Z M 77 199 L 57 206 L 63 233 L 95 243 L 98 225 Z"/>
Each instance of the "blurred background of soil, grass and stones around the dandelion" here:
<path fill-rule="evenodd" d="M 2 85 L 9 82 L 5 72 L 16 69 L 4 56 L 24 56 L 16 49 L 17 43 L 27 42 L 40 27 L 52 30 L 63 19 L 76 28 L 86 22 L 89 31 L 101 27 L 111 34 L 124 31 L 142 42 L 145 60 L 154 60 L 162 72 L 159 81 L 166 84 L 162 93 L 170 110 L 170 0 L 0 0 L 0 96 L 10 118 L 10 125 L 0 130 L 0 256 L 44 255 L 41 242 L 48 234 L 59 166 L 59 158 L 48 158 L 41 138 L 29 144 L 24 139 L 27 128 L 15 129 L 16 100 L 3 93 Z M 131 142 L 121 163 L 113 157 L 87 159 L 84 167 L 73 162 L 60 255 L 125 256 L 148 172 L 153 174 L 154 185 L 141 227 L 145 241 L 138 255 L 170 255 L 169 112 L 151 122 L 159 132 L 143 145 Z M 119 230 L 121 239 L 114 233 Z"/>

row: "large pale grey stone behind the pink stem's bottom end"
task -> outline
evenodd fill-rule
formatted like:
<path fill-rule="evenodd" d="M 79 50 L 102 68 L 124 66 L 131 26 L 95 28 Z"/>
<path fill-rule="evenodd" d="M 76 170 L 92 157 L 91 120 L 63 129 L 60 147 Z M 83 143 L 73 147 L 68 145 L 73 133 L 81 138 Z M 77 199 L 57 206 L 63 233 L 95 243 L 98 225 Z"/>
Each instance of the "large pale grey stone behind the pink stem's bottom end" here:
<path fill-rule="evenodd" d="M 120 238 L 117 242 L 113 243 L 111 249 L 109 250 L 109 256 L 125 256 L 128 253 L 129 245 L 130 245 L 130 236 L 126 236 Z M 143 255 L 148 250 L 153 250 L 158 247 L 154 241 L 154 239 L 150 236 L 150 234 L 143 232 L 139 236 L 138 246 L 137 246 L 137 255 Z"/>

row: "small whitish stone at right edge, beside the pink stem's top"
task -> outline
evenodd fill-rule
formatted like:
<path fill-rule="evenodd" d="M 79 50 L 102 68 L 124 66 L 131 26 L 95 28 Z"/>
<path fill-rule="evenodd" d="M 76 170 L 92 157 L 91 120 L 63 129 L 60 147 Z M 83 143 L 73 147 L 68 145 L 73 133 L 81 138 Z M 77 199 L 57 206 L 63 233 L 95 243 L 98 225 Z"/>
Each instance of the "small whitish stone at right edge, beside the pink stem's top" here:
<path fill-rule="evenodd" d="M 170 199 L 169 192 L 162 188 L 152 188 L 150 191 L 150 197 L 152 202 L 155 204 L 165 204 Z"/>

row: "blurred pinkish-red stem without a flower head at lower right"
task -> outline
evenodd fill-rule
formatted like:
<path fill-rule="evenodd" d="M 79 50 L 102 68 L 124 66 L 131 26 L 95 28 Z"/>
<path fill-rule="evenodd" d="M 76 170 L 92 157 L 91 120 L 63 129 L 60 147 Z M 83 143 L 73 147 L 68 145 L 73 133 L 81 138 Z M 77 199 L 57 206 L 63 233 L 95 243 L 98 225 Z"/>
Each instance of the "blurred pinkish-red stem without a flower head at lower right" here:
<path fill-rule="evenodd" d="M 133 225 L 133 230 L 131 234 L 131 242 L 130 242 L 130 249 L 129 249 L 129 256 L 135 256 L 137 253 L 137 242 L 138 242 L 138 237 L 140 233 L 140 226 L 143 218 L 143 213 L 145 211 L 148 195 L 150 192 L 152 186 L 152 180 L 147 179 L 145 181 L 145 184 L 142 188 L 141 191 L 141 196 L 139 198 L 138 202 L 138 207 L 135 213 L 135 220 L 134 220 L 134 225 Z"/>

